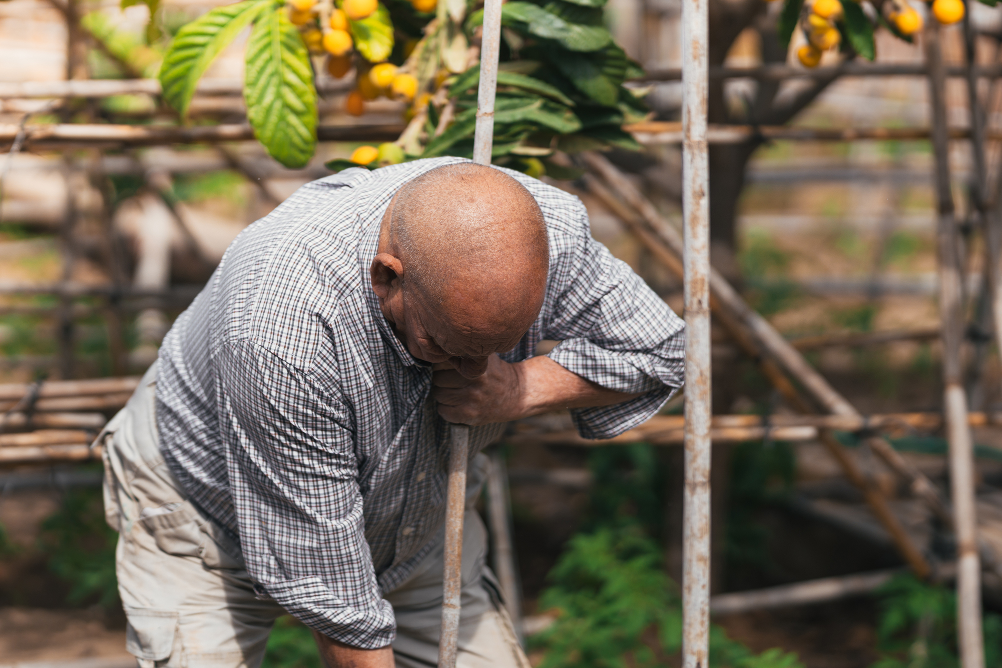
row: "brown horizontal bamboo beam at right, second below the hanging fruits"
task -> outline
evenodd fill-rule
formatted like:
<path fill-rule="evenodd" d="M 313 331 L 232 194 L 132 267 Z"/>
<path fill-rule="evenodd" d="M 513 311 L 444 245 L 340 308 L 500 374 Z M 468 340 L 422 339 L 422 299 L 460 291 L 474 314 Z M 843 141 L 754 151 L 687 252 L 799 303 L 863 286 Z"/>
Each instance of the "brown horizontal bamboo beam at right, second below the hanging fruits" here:
<path fill-rule="evenodd" d="M 677 144 L 682 140 L 681 123 L 673 121 L 643 121 L 623 126 L 641 144 Z M 919 141 L 929 139 L 929 129 L 923 127 L 789 127 L 785 125 L 720 125 L 711 124 L 707 130 L 707 140 L 712 144 L 738 144 L 756 137 L 764 140 L 790 141 Z M 953 128 L 951 139 L 967 139 L 970 130 Z M 987 130 L 986 138 L 1002 139 L 999 130 Z"/>

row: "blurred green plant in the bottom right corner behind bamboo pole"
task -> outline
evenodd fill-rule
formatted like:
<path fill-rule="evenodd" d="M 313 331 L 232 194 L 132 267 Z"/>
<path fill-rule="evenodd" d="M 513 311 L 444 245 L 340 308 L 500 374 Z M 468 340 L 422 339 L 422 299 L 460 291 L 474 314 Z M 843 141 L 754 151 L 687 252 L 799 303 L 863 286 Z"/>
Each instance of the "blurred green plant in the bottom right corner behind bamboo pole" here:
<path fill-rule="evenodd" d="M 901 575 L 880 590 L 878 646 L 872 668 L 953 668 L 957 658 L 957 598 L 942 585 Z M 1002 666 L 1002 616 L 983 617 L 985 665 Z"/>

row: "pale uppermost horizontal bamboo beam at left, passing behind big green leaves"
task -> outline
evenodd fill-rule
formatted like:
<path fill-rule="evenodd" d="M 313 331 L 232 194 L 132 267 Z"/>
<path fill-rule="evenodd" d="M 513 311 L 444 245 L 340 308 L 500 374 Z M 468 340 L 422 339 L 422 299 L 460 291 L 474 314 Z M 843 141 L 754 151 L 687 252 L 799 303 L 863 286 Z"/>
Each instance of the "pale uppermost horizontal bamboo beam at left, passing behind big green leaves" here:
<path fill-rule="evenodd" d="M 321 94 L 348 92 L 353 81 L 320 79 L 317 90 Z M 196 95 L 241 95 L 240 79 L 205 78 L 198 81 Z M 0 82 L 0 99 L 48 99 L 53 97 L 111 97 L 112 95 L 159 95 L 158 79 L 77 79 L 70 81 L 19 81 Z"/>

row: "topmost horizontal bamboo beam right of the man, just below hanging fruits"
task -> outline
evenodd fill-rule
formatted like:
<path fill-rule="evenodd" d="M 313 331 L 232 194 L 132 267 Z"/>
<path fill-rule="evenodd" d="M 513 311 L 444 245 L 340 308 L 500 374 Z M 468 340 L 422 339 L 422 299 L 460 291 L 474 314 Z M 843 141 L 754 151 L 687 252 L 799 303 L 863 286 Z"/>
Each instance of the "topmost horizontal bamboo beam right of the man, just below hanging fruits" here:
<path fill-rule="evenodd" d="M 757 65 L 755 67 L 710 67 L 710 79 L 758 79 L 759 81 L 783 81 L 785 79 L 827 79 L 833 76 L 925 76 L 928 70 L 924 63 L 863 63 L 848 61 L 841 65 L 806 69 L 791 65 Z M 967 67 L 955 65 L 947 68 L 947 76 L 966 77 Z M 1002 63 L 979 65 L 975 76 L 1002 76 Z M 651 70 L 633 81 L 681 81 L 682 71 L 678 68 Z"/>

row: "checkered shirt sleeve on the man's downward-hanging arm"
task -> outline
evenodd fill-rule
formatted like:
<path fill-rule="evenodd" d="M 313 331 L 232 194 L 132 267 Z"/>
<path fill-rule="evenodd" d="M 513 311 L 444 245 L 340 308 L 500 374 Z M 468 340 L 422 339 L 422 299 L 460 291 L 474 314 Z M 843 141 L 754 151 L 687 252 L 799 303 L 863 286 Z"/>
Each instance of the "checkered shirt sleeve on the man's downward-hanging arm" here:
<path fill-rule="evenodd" d="M 350 412 L 253 343 L 216 354 L 220 431 L 247 573 L 310 628 L 375 649 L 395 636 L 364 534 Z"/>

